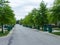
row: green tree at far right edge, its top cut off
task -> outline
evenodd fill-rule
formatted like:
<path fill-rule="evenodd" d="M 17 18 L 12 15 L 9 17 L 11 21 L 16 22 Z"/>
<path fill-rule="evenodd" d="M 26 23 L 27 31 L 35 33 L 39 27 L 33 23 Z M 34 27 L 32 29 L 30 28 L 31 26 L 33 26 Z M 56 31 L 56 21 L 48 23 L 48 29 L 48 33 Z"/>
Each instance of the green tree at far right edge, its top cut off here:
<path fill-rule="evenodd" d="M 52 7 L 52 22 L 57 25 L 60 21 L 60 0 L 55 0 Z"/>

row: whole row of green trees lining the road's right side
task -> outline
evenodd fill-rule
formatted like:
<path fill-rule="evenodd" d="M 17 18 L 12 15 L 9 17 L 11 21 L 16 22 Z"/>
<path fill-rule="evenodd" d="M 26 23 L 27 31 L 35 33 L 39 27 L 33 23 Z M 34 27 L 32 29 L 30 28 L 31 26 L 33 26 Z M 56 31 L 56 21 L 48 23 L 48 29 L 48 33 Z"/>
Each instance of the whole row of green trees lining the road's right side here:
<path fill-rule="evenodd" d="M 20 24 L 40 29 L 45 24 L 57 24 L 60 21 L 60 0 L 55 0 L 51 8 L 42 1 L 39 9 L 34 8 L 28 15 L 20 20 Z"/>

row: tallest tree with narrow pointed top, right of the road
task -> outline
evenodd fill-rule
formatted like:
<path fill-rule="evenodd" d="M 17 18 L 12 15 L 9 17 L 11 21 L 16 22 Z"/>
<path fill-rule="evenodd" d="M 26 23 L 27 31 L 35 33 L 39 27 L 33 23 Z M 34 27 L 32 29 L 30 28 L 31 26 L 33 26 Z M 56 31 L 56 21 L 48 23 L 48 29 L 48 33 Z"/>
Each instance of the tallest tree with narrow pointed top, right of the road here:
<path fill-rule="evenodd" d="M 43 28 L 43 25 L 48 23 L 48 20 L 47 20 L 47 7 L 46 7 L 46 4 L 44 3 L 44 1 L 42 1 L 40 3 L 39 12 L 40 12 L 40 18 L 41 18 L 41 20 L 40 20 L 41 21 L 41 26 Z"/>

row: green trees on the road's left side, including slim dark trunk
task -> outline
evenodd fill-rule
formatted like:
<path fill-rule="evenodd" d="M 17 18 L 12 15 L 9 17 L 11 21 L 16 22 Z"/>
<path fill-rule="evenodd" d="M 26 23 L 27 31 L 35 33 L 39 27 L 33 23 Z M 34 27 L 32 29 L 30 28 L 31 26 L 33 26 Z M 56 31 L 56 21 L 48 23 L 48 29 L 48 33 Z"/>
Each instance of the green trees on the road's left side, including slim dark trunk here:
<path fill-rule="evenodd" d="M 6 1 L 7 2 L 7 1 Z M 0 25 L 2 25 L 2 33 L 3 33 L 3 25 L 13 25 L 16 23 L 15 14 L 11 7 L 5 3 L 5 0 L 0 1 Z"/>

